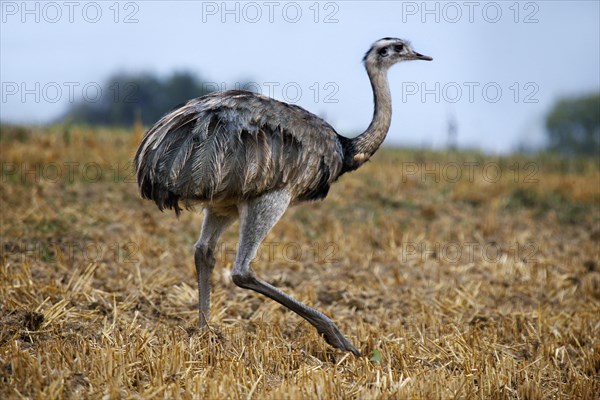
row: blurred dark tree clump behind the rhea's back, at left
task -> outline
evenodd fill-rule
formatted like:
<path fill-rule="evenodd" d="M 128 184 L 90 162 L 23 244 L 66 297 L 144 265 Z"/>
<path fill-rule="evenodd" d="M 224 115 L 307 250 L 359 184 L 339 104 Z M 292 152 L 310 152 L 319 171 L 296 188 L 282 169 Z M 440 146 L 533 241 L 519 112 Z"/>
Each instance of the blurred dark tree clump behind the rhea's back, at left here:
<path fill-rule="evenodd" d="M 118 73 L 100 86 L 99 93 L 75 103 L 66 117 L 91 125 L 131 126 L 139 116 L 149 126 L 175 106 L 208 94 L 209 89 L 188 72 L 163 79 L 152 74 Z"/>

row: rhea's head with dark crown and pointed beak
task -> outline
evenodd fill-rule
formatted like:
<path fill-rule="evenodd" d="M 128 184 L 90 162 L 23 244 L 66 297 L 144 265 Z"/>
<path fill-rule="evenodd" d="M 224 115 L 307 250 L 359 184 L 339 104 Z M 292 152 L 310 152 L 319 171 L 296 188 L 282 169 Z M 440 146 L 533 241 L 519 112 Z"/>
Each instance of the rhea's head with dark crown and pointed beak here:
<path fill-rule="evenodd" d="M 373 43 L 363 58 L 367 69 L 371 67 L 388 69 L 400 61 L 408 60 L 431 61 L 433 58 L 417 53 L 410 46 L 410 42 L 397 38 L 379 39 Z"/>

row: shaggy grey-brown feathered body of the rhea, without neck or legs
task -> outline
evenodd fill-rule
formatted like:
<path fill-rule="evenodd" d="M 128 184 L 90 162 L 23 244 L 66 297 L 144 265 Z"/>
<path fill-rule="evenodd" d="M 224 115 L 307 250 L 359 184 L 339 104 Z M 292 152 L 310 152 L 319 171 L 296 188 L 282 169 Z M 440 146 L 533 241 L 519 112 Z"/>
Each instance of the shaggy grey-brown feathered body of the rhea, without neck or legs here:
<path fill-rule="evenodd" d="M 135 165 L 142 196 L 160 209 L 242 201 L 288 187 L 294 198 L 327 194 L 341 173 L 337 133 L 304 109 L 255 93 L 190 100 L 144 136 Z"/>

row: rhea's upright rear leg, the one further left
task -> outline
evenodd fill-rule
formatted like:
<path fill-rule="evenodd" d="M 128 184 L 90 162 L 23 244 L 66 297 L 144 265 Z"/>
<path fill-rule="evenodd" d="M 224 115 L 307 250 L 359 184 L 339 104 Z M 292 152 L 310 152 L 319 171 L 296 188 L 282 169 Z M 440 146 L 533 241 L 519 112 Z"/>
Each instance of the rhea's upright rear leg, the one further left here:
<path fill-rule="evenodd" d="M 204 209 L 204 222 L 200 238 L 194 245 L 194 262 L 198 276 L 199 319 L 200 328 L 204 328 L 210 316 L 210 276 L 215 267 L 215 248 L 217 241 L 229 225 L 235 221 L 237 211 L 231 214 L 218 215 L 210 208 Z"/>

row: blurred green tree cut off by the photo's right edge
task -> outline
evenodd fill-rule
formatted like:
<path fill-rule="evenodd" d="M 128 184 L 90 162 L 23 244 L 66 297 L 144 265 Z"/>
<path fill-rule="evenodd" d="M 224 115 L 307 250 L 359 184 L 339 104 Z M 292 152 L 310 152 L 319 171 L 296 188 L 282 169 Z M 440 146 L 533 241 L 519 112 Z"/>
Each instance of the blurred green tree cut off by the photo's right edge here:
<path fill-rule="evenodd" d="M 546 117 L 548 149 L 564 155 L 600 155 L 600 93 L 562 99 Z"/>

